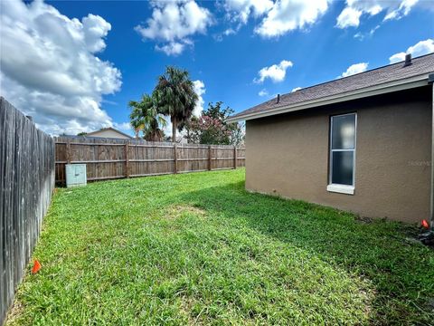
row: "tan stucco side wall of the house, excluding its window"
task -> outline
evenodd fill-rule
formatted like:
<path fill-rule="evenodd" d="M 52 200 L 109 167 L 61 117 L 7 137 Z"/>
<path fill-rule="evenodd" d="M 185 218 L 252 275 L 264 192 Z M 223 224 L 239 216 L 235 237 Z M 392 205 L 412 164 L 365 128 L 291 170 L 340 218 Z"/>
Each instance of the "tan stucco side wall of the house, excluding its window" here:
<path fill-rule="evenodd" d="M 429 87 L 246 123 L 246 188 L 419 222 L 429 218 Z M 354 195 L 328 183 L 330 115 L 357 112 Z"/>

